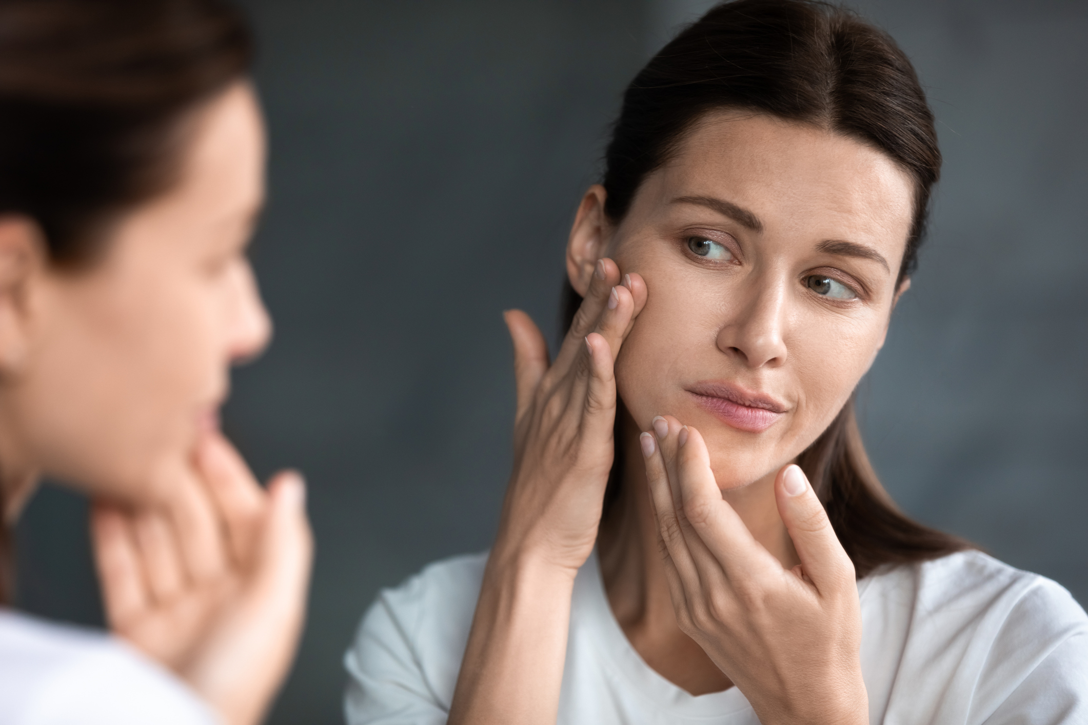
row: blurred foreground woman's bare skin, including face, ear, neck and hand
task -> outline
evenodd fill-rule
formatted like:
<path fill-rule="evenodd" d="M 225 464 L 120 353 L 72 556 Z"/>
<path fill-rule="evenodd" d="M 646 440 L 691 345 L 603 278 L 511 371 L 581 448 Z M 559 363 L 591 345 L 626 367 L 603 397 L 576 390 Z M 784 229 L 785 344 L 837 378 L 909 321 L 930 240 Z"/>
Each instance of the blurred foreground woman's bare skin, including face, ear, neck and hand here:
<path fill-rule="evenodd" d="M 245 257 L 264 197 L 249 85 L 185 130 L 177 183 L 88 268 L 0 217 L 0 486 L 8 522 L 42 475 L 90 496 L 111 628 L 251 725 L 295 651 L 312 541 L 298 474 L 262 489 L 218 432 L 230 366 L 271 335 Z"/>

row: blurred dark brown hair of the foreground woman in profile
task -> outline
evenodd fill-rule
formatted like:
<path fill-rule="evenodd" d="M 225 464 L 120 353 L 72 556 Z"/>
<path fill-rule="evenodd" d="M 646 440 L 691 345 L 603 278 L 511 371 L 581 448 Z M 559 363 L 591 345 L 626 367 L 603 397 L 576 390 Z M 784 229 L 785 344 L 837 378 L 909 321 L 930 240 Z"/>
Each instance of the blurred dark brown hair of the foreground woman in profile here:
<path fill-rule="evenodd" d="M 176 180 L 184 120 L 251 55 L 225 0 L 0 0 L 0 215 L 33 220 L 54 265 L 91 263 L 113 220 Z"/>

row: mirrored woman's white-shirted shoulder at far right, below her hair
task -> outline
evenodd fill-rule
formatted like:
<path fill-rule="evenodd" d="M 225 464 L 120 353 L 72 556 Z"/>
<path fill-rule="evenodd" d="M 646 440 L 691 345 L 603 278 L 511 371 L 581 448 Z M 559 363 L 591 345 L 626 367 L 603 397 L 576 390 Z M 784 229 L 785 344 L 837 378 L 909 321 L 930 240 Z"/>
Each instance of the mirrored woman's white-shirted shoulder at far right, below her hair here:
<path fill-rule="evenodd" d="M 1085 707 L 1074 683 L 1088 678 L 1088 615 L 1058 583 L 962 551 L 878 572 L 860 588 L 863 657 L 875 690 L 891 688 L 890 711 L 973 722 L 1014 703 L 1016 713 Z"/>

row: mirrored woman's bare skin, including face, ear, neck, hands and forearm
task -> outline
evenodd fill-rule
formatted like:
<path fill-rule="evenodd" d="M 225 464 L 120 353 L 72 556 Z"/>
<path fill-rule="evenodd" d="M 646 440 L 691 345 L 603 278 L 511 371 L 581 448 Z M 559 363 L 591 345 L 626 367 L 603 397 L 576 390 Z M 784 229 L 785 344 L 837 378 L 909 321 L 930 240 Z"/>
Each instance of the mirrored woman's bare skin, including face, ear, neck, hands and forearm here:
<path fill-rule="evenodd" d="M 584 302 L 554 365 L 507 314 L 515 472 L 450 723 L 555 722 L 594 542 L 667 679 L 735 685 L 764 723 L 867 722 L 853 566 L 790 464 L 883 343 L 912 190 L 853 139 L 735 112 L 691 130 L 618 223 L 589 190 L 567 253 Z M 602 525 L 617 399 L 627 461 Z"/>

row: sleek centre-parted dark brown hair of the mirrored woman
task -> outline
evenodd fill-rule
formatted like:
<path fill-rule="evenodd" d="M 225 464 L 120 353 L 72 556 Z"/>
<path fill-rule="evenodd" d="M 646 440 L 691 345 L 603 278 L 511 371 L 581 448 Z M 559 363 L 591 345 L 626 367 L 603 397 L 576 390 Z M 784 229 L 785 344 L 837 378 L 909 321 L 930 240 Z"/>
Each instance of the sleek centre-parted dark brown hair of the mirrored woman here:
<path fill-rule="evenodd" d="M 614 223 L 627 214 L 646 176 L 678 151 L 685 133 L 720 109 L 813 124 L 894 160 L 914 180 L 914 217 L 897 284 L 911 274 L 941 154 L 925 93 L 891 37 L 824 2 L 737 0 L 712 9 L 665 46 L 623 93 L 602 182 L 605 213 Z M 568 283 L 565 329 L 580 303 Z M 622 414 L 607 508 L 619 493 Z M 881 564 L 935 559 L 969 546 L 894 507 L 865 453 L 853 399 L 798 463 L 858 577 Z"/>

